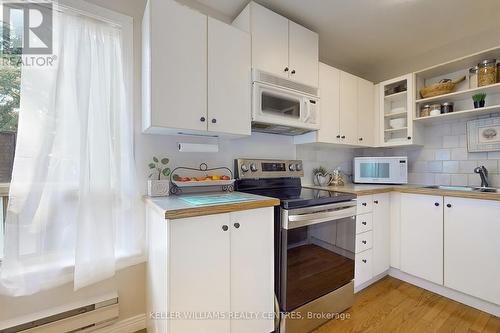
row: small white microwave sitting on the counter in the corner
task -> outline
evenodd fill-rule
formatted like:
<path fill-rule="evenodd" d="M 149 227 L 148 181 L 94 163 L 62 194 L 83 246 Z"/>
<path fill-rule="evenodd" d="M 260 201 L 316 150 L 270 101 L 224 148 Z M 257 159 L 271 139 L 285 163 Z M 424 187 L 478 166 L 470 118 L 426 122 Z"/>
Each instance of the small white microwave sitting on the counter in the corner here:
<path fill-rule="evenodd" d="M 408 157 L 355 157 L 353 182 L 358 184 L 407 184 Z"/>

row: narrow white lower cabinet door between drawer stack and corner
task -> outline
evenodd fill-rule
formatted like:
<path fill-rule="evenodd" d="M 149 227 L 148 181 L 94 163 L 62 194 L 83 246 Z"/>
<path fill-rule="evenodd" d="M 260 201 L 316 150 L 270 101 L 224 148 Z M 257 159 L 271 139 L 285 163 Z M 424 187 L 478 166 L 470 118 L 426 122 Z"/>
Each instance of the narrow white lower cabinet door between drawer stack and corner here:
<path fill-rule="evenodd" d="M 373 195 L 373 275 L 389 269 L 391 259 L 390 242 L 390 193 Z"/>

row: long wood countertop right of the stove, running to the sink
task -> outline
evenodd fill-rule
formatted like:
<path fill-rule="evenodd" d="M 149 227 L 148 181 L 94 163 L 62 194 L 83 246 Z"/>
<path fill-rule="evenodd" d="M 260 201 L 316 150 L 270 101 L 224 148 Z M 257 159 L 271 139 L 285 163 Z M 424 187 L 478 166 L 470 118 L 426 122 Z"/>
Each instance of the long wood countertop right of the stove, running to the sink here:
<path fill-rule="evenodd" d="M 487 193 L 487 192 L 465 192 L 465 191 L 450 191 L 443 189 L 425 188 L 426 185 L 363 185 L 363 184 L 346 184 L 345 186 L 315 186 L 306 185 L 304 187 L 322 189 L 329 191 L 352 193 L 358 196 L 387 193 L 387 192 L 401 192 L 401 193 L 414 193 L 437 195 L 444 197 L 457 197 L 469 199 L 482 199 L 482 200 L 497 200 L 500 201 L 500 193 Z"/>

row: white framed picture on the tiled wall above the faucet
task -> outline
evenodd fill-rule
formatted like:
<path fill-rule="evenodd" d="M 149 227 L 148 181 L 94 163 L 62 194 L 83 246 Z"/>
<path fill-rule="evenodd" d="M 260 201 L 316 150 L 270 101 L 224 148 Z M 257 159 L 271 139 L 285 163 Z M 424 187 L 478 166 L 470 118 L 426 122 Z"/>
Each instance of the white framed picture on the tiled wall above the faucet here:
<path fill-rule="evenodd" d="M 473 153 L 500 151 L 500 117 L 469 121 L 467 148 Z"/>

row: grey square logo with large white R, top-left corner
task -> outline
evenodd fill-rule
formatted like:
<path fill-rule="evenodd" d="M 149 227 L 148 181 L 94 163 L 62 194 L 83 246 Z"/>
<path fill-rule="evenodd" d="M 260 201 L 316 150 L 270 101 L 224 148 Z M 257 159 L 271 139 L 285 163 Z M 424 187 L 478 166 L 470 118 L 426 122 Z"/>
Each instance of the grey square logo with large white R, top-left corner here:
<path fill-rule="evenodd" d="M 2 52 L 52 54 L 52 2 L 2 2 Z"/>

